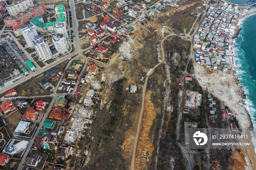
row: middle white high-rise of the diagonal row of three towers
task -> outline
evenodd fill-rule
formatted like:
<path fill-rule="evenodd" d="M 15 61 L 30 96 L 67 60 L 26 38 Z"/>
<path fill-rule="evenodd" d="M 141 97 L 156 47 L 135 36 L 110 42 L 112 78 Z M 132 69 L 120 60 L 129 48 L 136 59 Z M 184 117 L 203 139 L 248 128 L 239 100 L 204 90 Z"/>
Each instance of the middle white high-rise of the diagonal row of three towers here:
<path fill-rule="evenodd" d="M 32 43 L 35 48 L 35 51 L 37 51 L 37 54 L 42 61 L 46 61 L 52 58 L 52 52 L 49 48 L 49 45 L 47 41 L 43 39 L 42 36 L 35 35 L 32 40 Z"/>

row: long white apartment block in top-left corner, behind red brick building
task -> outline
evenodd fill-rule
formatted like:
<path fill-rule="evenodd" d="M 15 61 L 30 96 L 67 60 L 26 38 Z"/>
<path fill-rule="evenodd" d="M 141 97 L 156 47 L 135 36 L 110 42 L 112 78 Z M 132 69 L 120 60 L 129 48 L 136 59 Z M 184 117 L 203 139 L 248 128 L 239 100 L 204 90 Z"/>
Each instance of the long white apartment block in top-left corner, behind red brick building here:
<path fill-rule="evenodd" d="M 10 15 L 17 15 L 19 12 L 24 12 L 27 8 L 33 7 L 32 0 L 20 0 L 11 5 L 7 5 L 6 9 Z"/>

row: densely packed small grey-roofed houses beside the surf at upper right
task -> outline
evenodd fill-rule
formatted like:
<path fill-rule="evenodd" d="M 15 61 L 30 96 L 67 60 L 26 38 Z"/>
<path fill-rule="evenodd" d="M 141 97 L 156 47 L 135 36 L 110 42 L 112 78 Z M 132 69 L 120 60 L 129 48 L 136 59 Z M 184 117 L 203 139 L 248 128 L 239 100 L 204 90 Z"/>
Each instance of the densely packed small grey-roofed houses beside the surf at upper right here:
<path fill-rule="evenodd" d="M 194 36 L 196 65 L 204 65 L 237 77 L 233 64 L 233 36 L 235 24 L 248 9 L 241 11 L 228 3 L 211 5 L 207 16 Z"/>

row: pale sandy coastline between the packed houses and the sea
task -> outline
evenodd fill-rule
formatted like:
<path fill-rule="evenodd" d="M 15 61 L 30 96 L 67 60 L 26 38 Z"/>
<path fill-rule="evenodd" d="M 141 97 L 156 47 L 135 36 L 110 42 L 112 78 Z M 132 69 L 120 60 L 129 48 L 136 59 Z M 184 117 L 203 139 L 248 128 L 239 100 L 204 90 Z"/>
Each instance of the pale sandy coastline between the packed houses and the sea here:
<path fill-rule="evenodd" d="M 225 0 L 223 0 L 225 1 Z M 237 5 L 228 1 L 225 1 L 227 4 Z M 237 5 L 238 6 L 238 5 Z M 241 10 L 248 9 L 250 5 L 239 6 Z M 240 16 L 236 20 L 236 24 L 234 24 L 234 35 L 232 37 L 233 44 L 231 47 L 232 50 L 232 59 L 230 62 L 230 66 L 235 70 L 233 73 L 237 73 L 237 63 L 234 62 L 236 56 L 234 55 L 234 43 L 237 36 L 240 33 L 241 24 L 243 21 L 251 15 L 256 14 L 256 9 L 251 9 L 245 13 L 245 15 Z M 198 39 L 198 38 L 197 38 Z M 195 48 L 194 48 L 195 49 Z M 197 64 L 195 66 L 195 77 L 198 79 L 200 86 L 203 89 L 206 89 L 208 92 L 212 93 L 215 97 L 219 98 L 223 102 L 223 104 L 231 109 L 234 113 L 234 117 L 237 117 L 237 120 L 240 124 L 241 128 L 253 128 L 252 117 L 249 113 L 248 106 L 246 106 L 246 95 L 245 88 L 240 85 L 237 74 L 227 74 L 223 73 L 222 70 L 212 70 L 208 69 L 206 65 L 201 66 Z M 213 74 L 212 74 L 213 73 Z M 253 116 L 253 115 L 252 115 Z M 255 142 L 255 136 L 251 136 L 248 139 L 249 143 Z M 251 169 L 256 169 L 256 161 L 255 161 L 255 144 L 252 146 L 253 149 L 246 150 L 245 148 L 241 148 L 245 153 L 245 159 L 248 160 L 248 166 Z"/>

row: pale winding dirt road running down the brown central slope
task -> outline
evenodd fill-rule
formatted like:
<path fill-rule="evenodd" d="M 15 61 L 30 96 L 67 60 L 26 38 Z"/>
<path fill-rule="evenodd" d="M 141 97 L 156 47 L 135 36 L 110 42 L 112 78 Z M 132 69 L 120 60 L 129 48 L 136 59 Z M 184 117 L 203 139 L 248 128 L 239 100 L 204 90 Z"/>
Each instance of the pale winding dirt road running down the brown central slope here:
<path fill-rule="evenodd" d="M 159 62 L 157 65 L 155 65 L 151 71 L 151 73 L 149 75 L 146 76 L 145 79 L 145 84 L 143 85 L 143 95 L 142 95 L 142 108 L 140 110 L 140 117 L 139 117 L 139 121 L 138 121 L 138 127 L 137 127 L 137 132 L 136 132 L 136 137 L 135 137 L 135 141 L 134 141 L 134 145 L 133 145 L 133 153 L 132 153 L 132 162 L 131 162 L 131 169 L 135 170 L 136 169 L 136 164 L 135 164 L 135 155 L 136 155 L 136 149 L 137 149 L 137 144 L 138 144 L 138 140 L 139 140 L 139 136 L 140 136 L 140 132 L 141 132 L 141 128 L 142 128 L 142 117 L 143 117 L 143 112 L 144 112 L 144 100 L 145 100 L 145 94 L 146 94 L 146 87 L 147 87 L 147 81 L 148 81 L 148 77 L 154 72 L 155 68 L 158 67 L 159 65 L 161 65 L 164 61 L 165 61 L 165 54 L 163 51 L 163 42 L 166 40 L 166 38 L 168 38 L 169 36 L 174 36 L 176 34 L 170 34 L 168 36 L 166 36 L 162 41 L 161 41 L 161 51 L 162 51 L 162 61 Z"/>

